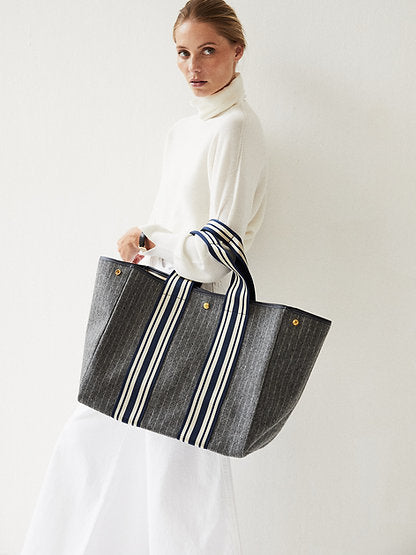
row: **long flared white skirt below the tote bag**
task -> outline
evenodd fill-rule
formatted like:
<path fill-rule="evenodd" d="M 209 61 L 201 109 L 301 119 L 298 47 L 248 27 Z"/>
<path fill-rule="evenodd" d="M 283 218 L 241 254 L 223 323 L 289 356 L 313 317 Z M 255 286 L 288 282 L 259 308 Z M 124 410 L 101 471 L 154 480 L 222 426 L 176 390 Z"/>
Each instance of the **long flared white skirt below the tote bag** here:
<path fill-rule="evenodd" d="M 55 446 L 22 555 L 240 553 L 227 457 L 78 404 Z"/>

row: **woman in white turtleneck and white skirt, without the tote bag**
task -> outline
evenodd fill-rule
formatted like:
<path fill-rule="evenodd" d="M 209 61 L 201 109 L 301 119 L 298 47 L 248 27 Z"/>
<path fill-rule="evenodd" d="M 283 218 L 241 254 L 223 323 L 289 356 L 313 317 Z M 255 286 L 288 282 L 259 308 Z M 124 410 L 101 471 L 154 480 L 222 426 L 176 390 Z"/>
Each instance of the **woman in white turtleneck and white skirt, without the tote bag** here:
<path fill-rule="evenodd" d="M 173 37 L 197 113 L 169 131 L 149 223 L 118 248 L 123 260 L 223 292 L 227 269 L 189 232 L 216 218 L 247 250 L 263 218 L 263 135 L 236 72 L 244 34 L 223 0 L 191 0 Z M 213 553 L 240 553 L 229 459 L 79 405 L 55 448 L 23 555 Z"/>

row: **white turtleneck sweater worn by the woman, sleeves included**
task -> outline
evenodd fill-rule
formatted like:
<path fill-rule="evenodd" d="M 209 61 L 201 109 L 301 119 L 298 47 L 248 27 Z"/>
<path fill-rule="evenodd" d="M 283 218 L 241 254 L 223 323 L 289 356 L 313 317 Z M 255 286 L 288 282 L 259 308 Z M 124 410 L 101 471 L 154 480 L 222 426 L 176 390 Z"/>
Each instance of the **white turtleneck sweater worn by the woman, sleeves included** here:
<path fill-rule="evenodd" d="M 155 247 L 141 263 L 163 258 L 178 274 L 213 283 L 229 270 L 190 231 L 216 218 L 240 235 L 247 252 L 264 215 L 265 144 L 240 74 L 191 104 L 197 114 L 176 122 L 166 138 L 159 191 L 149 223 L 139 225 Z"/>

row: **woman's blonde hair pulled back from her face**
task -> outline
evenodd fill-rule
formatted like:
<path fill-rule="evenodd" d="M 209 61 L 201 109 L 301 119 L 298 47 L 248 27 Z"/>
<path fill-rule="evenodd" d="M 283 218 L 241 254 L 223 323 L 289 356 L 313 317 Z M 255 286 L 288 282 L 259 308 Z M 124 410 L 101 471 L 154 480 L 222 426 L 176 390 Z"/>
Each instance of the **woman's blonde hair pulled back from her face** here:
<path fill-rule="evenodd" d="M 179 11 L 173 26 L 173 40 L 176 29 L 188 19 L 211 24 L 217 33 L 230 42 L 246 47 L 244 30 L 235 11 L 224 0 L 189 0 Z"/>

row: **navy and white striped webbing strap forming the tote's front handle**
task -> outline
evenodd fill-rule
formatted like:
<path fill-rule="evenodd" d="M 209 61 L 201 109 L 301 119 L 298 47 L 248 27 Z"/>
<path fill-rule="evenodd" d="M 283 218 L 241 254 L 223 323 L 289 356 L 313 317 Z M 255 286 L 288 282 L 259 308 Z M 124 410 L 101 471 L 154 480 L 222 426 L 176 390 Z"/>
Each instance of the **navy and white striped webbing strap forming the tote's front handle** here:
<path fill-rule="evenodd" d="M 214 339 L 178 435 L 186 443 L 206 448 L 237 362 L 249 300 L 254 300 L 255 292 L 243 244 L 236 233 L 211 219 L 191 234 L 200 237 L 210 254 L 233 271 Z M 114 418 L 140 425 L 193 285 L 175 271 L 169 276 L 127 372 Z"/>

